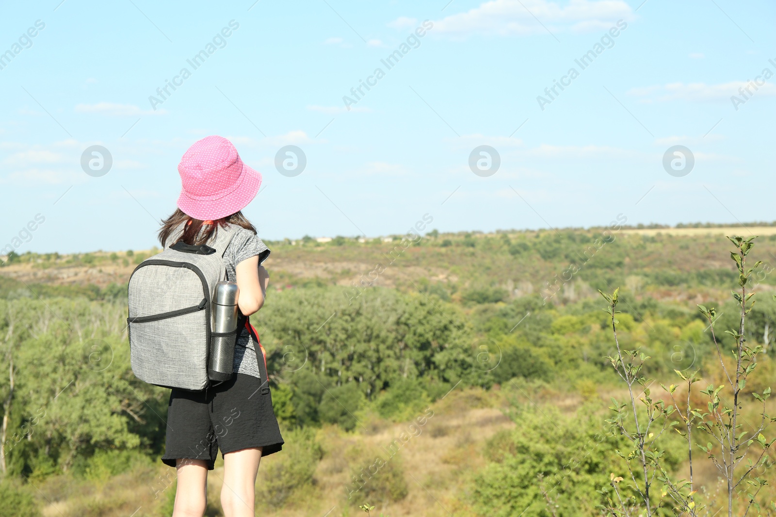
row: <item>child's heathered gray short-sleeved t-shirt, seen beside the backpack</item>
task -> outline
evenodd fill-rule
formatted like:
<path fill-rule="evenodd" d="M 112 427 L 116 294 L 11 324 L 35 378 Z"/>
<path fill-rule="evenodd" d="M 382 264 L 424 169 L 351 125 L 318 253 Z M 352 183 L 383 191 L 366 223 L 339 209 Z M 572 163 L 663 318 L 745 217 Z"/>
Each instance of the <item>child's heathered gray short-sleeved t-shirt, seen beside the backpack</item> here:
<path fill-rule="evenodd" d="M 258 264 L 261 265 L 269 257 L 269 249 L 251 230 L 238 228 L 237 233 L 227 246 L 227 250 L 223 252 L 223 264 L 227 267 L 227 280 L 237 281 L 235 272 L 237 264 L 256 255 L 258 255 Z M 237 344 L 234 346 L 234 373 L 262 377 L 258 372 L 255 343 L 246 329 L 241 329 L 237 333 Z"/>

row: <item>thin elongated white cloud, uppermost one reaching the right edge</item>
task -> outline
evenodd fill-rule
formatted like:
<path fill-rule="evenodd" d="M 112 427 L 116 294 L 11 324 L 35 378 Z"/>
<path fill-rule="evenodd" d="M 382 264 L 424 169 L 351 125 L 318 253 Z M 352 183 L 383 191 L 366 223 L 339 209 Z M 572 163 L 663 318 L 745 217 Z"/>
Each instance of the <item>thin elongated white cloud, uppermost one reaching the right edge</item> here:
<path fill-rule="evenodd" d="M 729 101 L 731 95 L 741 97 L 739 88 L 744 88 L 747 97 L 776 95 L 776 85 L 772 83 L 765 83 L 762 86 L 757 86 L 757 91 L 750 86 L 750 92 L 747 93 L 745 88 L 749 85 L 750 83 L 747 81 L 730 81 L 722 84 L 670 83 L 664 86 L 632 88 L 628 91 L 628 95 L 643 97 L 641 102 L 674 101 L 677 99 L 685 101 L 719 101 L 724 99 Z"/>

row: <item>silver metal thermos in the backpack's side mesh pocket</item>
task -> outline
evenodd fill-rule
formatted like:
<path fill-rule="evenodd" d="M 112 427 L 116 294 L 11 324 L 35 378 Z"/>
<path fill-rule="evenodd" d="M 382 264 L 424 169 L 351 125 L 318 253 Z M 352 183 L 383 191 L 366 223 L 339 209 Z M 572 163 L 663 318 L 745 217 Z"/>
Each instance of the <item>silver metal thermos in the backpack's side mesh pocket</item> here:
<path fill-rule="evenodd" d="M 237 340 L 236 282 L 218 282 L 213 296 L 213 336 L 207 376 L 213 381 L 228 381 L 234 367 L 234 343 Z"/>

